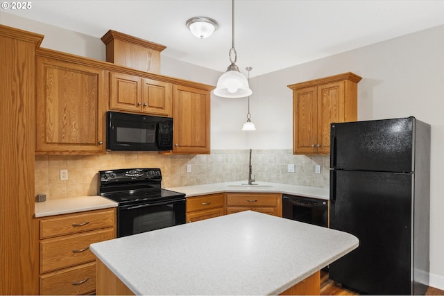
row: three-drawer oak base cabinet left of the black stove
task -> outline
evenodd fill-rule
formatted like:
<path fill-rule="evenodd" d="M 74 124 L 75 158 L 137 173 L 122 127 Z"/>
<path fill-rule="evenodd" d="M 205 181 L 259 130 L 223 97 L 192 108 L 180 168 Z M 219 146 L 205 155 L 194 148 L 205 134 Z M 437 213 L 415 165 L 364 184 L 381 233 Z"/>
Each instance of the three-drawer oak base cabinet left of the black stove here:
<path fill-rule="evenodd" d="M 89 245 L 116 237 L 116 210 L 40 218 L 40 294 L 89 294 L 96 290 Z"/>

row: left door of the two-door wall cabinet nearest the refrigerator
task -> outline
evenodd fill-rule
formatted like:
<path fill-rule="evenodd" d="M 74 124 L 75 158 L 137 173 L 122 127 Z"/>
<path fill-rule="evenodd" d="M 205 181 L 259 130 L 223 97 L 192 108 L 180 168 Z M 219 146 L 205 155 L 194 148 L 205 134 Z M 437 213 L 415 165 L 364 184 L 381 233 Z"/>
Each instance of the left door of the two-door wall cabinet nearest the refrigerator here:
<path fill-rule="evenodd" d="M 318 89 L 307 87 L 293 92 L 293 154 L 317 152 Z"/>

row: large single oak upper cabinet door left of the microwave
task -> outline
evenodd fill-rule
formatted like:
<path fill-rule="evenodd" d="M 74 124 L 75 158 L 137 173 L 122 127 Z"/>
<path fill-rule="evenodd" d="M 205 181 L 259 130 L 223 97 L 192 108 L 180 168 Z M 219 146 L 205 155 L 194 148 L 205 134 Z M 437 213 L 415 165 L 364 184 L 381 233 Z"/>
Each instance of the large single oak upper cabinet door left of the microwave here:
<path fill-rule="evenodd" d="M 104 153 L 104 71 L 36 61 L 36 153 Z"/>

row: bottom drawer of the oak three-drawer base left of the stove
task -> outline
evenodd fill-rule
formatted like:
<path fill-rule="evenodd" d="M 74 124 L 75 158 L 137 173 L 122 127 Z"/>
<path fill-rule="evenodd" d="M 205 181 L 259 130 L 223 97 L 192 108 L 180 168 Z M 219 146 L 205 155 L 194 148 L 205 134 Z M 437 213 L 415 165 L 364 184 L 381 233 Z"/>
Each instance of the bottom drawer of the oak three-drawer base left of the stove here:
<path fill-rule="evenodd" d="M 95 261 L 40 276 L 40 295 L 84 295 L 95 290 Z"/>

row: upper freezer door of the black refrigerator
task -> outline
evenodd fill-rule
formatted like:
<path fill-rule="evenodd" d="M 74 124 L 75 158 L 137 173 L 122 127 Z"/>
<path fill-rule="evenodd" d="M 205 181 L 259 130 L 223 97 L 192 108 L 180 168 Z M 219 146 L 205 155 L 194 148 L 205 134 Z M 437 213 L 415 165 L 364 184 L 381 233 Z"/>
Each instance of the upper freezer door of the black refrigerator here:
<path fill-rule="evenodd" d="M 413 171 L 413 117 L 332 123 L 331 168 Z"/>

